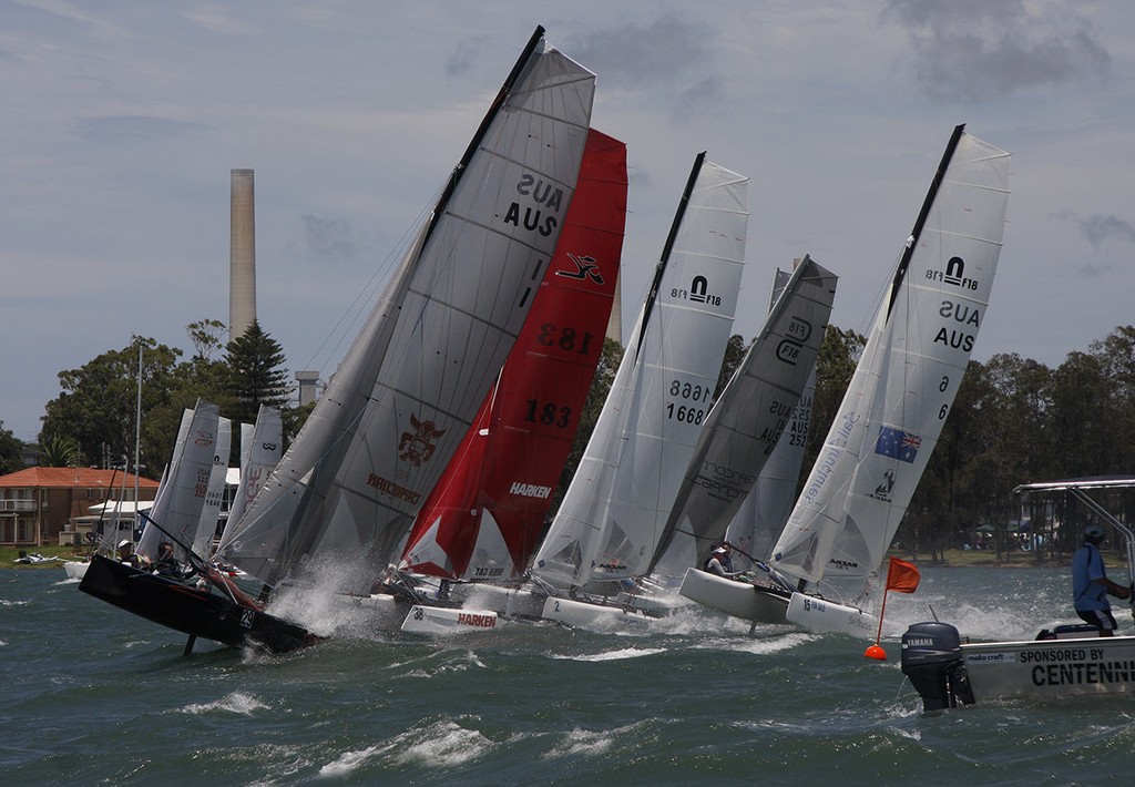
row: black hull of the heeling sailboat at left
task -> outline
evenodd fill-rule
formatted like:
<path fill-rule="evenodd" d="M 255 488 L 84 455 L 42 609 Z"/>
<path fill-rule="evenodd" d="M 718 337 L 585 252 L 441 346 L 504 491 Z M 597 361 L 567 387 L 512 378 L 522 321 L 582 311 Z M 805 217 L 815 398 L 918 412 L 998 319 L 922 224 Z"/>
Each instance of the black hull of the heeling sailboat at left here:
<path fill-rule="evenodd" d="M 95 555 L 78 589 L 159 626 L 233 647 L 287 653 L 320 642 L 294 623 L 208 589 Z"/>

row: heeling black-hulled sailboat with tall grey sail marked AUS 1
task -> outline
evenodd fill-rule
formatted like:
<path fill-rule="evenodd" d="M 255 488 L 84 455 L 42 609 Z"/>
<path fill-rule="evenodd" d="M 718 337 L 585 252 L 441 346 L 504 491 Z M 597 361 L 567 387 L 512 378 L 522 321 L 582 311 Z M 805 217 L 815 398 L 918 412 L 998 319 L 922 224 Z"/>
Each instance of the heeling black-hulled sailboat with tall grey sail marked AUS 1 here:
<path fill-rule="evenodd" d="M 213 575 L 219 593 L 187 593 L 169 613 L 152 586 L 143 597 L 121 583 L 112 603 L 191 643 L 284 652 L 319 641 L 321 621 L 300 622 L 318 600 L 369 592 L 524 323 L 575 189 L 594 87 L 537 27 L 308 422 L 225 533 L 219 558 L 272 589 L 270 611 Z"/>

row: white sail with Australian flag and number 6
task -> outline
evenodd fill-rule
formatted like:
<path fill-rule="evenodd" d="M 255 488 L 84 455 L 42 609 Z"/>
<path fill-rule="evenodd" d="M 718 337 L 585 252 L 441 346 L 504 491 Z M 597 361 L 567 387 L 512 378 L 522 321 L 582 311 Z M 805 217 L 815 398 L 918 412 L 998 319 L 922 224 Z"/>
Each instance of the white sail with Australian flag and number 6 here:
<path fill-rule="evenodd" d="M 773 562 L 818 583 L 876 571 L 922 477 L 985 317 L 1009 154 L 955 129 L 891 291 Z"/>

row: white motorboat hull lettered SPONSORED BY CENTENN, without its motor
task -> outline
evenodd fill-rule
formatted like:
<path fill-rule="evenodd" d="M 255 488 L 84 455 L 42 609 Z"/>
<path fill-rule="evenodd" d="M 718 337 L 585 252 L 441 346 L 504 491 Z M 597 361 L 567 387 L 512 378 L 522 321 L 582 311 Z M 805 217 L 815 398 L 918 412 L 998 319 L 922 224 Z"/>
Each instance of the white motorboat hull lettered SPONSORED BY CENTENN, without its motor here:
<path fill-rule="evenodd" d="M 961 646 L 976 702 L 1135 692 L 1135 636 Z"/>

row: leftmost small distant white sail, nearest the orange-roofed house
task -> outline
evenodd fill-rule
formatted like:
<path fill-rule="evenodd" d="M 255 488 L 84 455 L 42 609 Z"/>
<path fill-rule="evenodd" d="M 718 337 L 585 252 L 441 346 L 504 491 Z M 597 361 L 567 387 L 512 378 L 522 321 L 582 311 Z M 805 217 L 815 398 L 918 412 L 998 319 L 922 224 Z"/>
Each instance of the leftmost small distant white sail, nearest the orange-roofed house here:
<path fill-rule="evenodd" d="M 138 552 L 151 560 L 157 560 L 158 545 L 163 541 L 174 543 L 178 560 L 186 559 L 186 547 L 197 535 L 217 457 L 220 416 L 216 404 L 199 399 L 192 410 L 183 413 L 182 424 L 184 437 L 179 430 L 174 457 L 138 541 Z"/>

